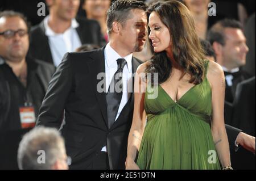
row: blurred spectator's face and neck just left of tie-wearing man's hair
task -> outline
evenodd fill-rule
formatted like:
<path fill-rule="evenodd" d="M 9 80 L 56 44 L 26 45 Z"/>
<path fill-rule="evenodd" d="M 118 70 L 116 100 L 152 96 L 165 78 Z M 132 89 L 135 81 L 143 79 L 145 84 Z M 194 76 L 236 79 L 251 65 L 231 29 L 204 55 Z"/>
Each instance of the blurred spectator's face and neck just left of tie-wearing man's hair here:
<path fill-rule="evenodd" d="M 86 12 L 86 18 L 95 19 L 100 23 L 101 33 L 108 42 L 106 26 L 106 14 L 110 7 L 111 0 L 85 0 L 82 9 Z"/>

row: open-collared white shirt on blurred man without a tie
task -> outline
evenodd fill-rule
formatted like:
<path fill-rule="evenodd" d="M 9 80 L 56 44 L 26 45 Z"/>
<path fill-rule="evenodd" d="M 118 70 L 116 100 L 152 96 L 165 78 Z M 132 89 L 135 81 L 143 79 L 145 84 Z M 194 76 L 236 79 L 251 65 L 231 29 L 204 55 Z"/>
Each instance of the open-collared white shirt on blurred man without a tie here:
<path fill-rule="evenodd" d="M 63 33 L 56 33 L 48 26 L 48 20 L 49 16 L 46 16 L 44 18 L 44 27 L 46 28 L 46 36 L 48 36 L 53 64 L 58 66 L 65 53 L 74 52 L 76 48 L 81 46 L 81 41 L 76 31 L 79 23 L 74 18 L 71 21 L 71 27 Z"/>

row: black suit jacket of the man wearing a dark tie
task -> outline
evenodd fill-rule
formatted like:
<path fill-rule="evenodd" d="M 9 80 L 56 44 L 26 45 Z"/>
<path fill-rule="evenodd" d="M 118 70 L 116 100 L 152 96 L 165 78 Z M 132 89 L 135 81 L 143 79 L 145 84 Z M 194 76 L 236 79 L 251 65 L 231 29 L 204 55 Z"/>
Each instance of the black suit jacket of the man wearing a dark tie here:
<path fill-rule="evenodd" d="M 135 72 L 141 62 L 133 58 L 132 64 Z M 104 48 L 65 54 L 40 108 L 37 125 L 61 126 L 71 169 L 92 169 L 93 159 L 105 145 L 110 169 L 125 169 L 134 94 L 109 129 L 106 94 L 97 91 L 102 81 L 98 73 L 105 74 Z"/>

